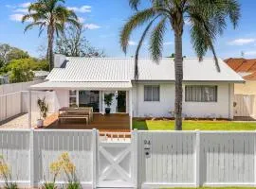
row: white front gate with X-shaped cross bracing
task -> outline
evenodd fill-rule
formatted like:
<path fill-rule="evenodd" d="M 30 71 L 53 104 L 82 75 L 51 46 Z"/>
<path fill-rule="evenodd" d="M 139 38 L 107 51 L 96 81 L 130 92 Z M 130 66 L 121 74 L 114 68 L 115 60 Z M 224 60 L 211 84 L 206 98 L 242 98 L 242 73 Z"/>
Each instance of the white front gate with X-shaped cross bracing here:
<path fill-rule="evenodd" d="M 136 188 L 137 159 L 131 133 L 98 135 L 97 188 Z"/>

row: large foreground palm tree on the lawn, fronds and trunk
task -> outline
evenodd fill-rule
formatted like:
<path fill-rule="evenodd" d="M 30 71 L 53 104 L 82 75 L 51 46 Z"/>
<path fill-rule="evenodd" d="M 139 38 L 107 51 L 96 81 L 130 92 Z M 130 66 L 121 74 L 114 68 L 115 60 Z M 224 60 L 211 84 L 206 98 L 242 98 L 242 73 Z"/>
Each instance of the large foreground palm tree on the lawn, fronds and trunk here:
<path fill-rule="evenodd" d="M 143 0 L 144 2 L 144 0 Z M 132 32 L 147 24 L 137 44 L 135 56 L 135 79 L 138 77 L 137 58 L 139 49 L 151 32 L 149 51 L 152 59 L 159 61 L 162 56 L 163 38 L 169 28 L 174 31 L 174 71 L 175 71 L 175 129 L 182 129 L 182 80 L 183 54 L 182 35 L 185 21 L 190 23 L 192 46 L 199 60 L 208 50 L 212 51 L 216 69 L 220 67 L 214 50 L 214 40 L 227 26 L 227 17 L 237 26 L 240 6 L 236 0 L 149 0 L 148 9 L 138 10 L 142 0 L 129 0 L 130 7 L 137 10 L 123 26 L 120 33 L 120 45 L 124 53 Z M 155 23 L 156 22 L 156 23 Z M 151 28 L 154 27 L 152 30 Z"/>

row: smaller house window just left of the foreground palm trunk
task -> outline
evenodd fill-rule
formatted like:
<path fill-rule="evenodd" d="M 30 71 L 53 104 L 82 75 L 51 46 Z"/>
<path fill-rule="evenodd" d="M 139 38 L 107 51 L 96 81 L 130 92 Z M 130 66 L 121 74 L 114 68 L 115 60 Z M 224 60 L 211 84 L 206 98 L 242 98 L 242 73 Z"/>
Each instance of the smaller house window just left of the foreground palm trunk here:
<path fill-rule="evenodd" d="M 144 86 L 144 101 L 160 101 L 160 87 L 158 85 Z"/>

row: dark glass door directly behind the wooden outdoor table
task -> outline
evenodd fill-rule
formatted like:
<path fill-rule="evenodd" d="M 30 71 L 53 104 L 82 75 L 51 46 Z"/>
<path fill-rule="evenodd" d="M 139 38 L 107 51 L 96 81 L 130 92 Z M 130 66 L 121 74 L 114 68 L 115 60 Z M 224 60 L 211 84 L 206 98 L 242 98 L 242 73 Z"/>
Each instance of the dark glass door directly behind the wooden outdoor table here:
<path fill-rule="evenodd" d="M 100 91 L 79 91 L 79 107 L 93 107 L 93 112 L 100 112 Z"/>

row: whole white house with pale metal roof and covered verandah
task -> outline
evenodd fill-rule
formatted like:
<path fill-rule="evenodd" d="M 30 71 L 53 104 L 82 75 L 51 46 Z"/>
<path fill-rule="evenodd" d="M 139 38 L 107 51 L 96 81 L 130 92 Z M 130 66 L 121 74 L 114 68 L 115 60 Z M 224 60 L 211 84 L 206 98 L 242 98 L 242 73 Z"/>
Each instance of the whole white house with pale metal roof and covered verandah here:
<path fill-rule="evenodd" d="M 155 63 L 134 59 L 71 58 L 55 56 L 55 66 L 46 82 L 31 90 L 53 90 L 59 107 L 92 106 L 104 113 L 104 94 L 114 93 L 111 112 L 130 117 L 170 117 L 174 111 L 174 59 Z M 187 117 L 233 118 L 233 84 L 244 82 L 223 61 L 218 73 L 213 59 L 184 59 L 183 113 Z M 120 100 L 117 96 L 122 96 Z"/>

